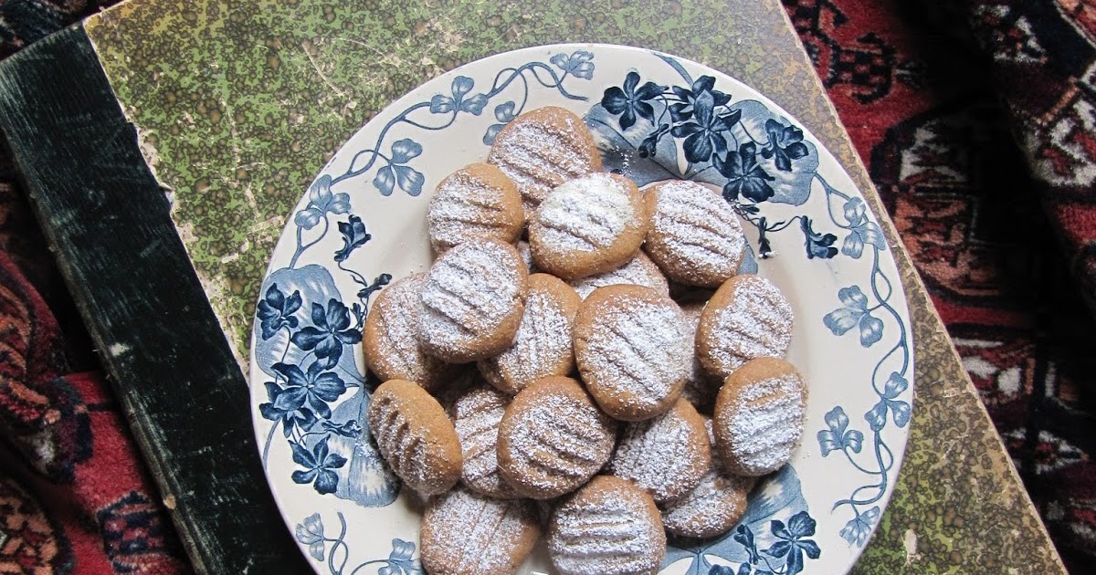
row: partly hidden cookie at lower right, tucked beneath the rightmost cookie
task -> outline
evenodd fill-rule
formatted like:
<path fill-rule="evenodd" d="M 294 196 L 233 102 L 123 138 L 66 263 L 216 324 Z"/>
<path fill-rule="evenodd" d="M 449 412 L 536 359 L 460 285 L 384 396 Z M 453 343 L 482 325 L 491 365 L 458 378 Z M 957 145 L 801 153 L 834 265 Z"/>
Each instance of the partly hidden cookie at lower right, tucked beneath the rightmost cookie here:
<path fill-rule="evenodd" d="M 711 419 L 705 418 L 705 427 L 715 446 Z M 662 525 L 681 537 L 708 539 L 726 533 L 745 515 L 746 497 L 755 482 L 756 478 L 728 474 L 719 457 L 713 457 L 696 488 L 661 506 Z"/>

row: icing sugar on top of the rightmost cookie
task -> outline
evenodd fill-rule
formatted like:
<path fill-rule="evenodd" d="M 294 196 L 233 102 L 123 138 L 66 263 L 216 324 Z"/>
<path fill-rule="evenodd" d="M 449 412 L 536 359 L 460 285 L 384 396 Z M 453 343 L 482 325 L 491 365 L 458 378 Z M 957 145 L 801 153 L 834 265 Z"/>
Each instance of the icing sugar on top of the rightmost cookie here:
<path fill-rule="evenodd" d="M 775 471 L 791 458 L 803 432 L 803 383 L 785 375 L 746 386 L 717 424 L 744 472 Z"/>

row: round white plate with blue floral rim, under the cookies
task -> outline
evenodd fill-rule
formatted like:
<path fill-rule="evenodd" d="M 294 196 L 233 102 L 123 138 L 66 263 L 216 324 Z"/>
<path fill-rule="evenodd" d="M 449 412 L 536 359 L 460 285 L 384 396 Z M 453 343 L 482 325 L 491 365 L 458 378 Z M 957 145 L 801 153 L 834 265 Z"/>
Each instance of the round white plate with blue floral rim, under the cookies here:
<path fill-rule="evenodd" d="M 583 116 L 607 169 L 723 189 L 796 312 L 789 359 L 810 387 L 791 462 L 711 541 L 671 541 L 663 574 L 831 575 L 859 555 L 898 474 L 913 348 L 898 271 L 848 175 L 795 118 L 705 66 L 607 45 L 500 54 L 419 87 L 362 127 L 290 215 L 256 309 L 251 407 L 267 481 L 319 573 L 420 573 L 419 509 L 362 415 L 377 381 L 361 329 L 372 297 L 426 269 L 437 183 L 487 158 L 545 105 Z M 646 156 L 646 157 L 644 157 Z M 543 553 L 522 573 L 552 573 Z"/>

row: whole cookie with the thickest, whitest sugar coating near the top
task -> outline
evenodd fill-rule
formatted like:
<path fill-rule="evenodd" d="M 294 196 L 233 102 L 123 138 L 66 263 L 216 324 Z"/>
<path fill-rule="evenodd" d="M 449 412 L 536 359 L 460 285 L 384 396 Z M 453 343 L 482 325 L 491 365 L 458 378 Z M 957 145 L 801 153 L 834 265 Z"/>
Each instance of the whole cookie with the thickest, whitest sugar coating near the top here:
<path fill-rule="evenodd" d="M 631 180 L 590 174 L 557 186 L 529 216 L 529 251 L 563 279 L 603 274 L 636 256 L 650 222 Z"/>

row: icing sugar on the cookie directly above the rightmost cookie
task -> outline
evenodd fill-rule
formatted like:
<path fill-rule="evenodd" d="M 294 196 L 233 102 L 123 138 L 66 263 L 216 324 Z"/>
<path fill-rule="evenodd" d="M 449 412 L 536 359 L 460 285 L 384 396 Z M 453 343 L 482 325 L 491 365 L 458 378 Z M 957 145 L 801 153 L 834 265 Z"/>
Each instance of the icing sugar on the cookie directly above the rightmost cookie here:
<path fill-rule="evenodd" d="M 728 376 L 755 357 L 784 357 L 791 343 L 791 304 L 772 281 L 743 276 L 715 317 L 708 349 Z"/>

